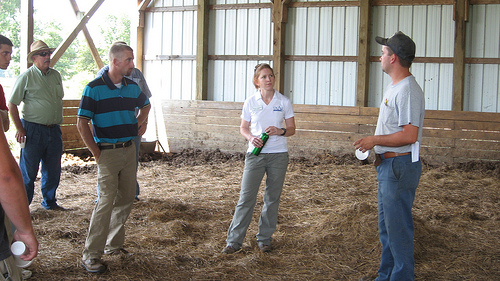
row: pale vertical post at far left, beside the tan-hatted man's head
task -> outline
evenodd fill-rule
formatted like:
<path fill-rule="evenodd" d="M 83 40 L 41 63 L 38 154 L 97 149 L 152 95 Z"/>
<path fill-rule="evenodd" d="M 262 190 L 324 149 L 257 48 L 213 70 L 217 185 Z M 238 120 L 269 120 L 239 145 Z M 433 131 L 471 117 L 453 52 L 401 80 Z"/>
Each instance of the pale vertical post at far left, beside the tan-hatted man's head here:
<path fill-rule="evenodd" d="M 21 72 L 28 69 L 31 63 L 28 63 L 28 53 L 30 45 L 33 43 L 33 0 L 21 1 Z"/>

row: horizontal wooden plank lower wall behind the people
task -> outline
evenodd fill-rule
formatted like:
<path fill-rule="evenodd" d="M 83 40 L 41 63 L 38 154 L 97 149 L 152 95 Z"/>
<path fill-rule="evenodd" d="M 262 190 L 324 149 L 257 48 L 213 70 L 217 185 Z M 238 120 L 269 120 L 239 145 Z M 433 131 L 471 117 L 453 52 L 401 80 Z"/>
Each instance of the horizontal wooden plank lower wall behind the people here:
<path fill-rule="evenodd" d="M 71 125 L 78 103 L 65 101 L 66 150 L 83 147 Z M 241 102 L 163 100 L 168 143 L 162 146 L 171 152 L 185 148 L 244 152 L 247 142 L 239 134 L 242 106 Z M 294 105 L 294 111 L 297 132 L 288 139 L 292 157 L 354 153 L 352 143 L 374 133 L 378 116 L 373 107 Z M 421 155 L 429 164 L 500 161 L 500 113 L 427 110 Z"/>

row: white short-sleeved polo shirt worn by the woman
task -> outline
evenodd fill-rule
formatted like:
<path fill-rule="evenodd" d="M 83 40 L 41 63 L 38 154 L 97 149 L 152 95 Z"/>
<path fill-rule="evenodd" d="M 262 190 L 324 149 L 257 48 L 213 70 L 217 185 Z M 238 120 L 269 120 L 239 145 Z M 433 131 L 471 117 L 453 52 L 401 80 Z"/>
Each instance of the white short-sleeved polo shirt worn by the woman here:
<path fill-rule="evenodd" d="M 245 100 L 241 111 L 241 119 L 250 122 L 250 132 L 254 136 L 260 136 L 269 126 L 284 128 L 285 119 L 294 117 L 292 103 L 278 91 L 274 91 L 274 97 L 269 104 L 262 100 L 260 89 Z M 252 152 L 254 146 L 248 142 L 247 152 Z M 262 148 L 261 153 L 287 152 L 286 137 L 270 136 Z"/>

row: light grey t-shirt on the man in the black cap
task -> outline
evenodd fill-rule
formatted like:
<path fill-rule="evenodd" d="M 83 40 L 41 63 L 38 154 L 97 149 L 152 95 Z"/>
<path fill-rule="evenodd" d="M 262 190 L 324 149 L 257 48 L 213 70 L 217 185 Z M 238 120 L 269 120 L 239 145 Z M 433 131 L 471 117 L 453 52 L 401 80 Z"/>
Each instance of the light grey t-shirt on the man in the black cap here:
<path fill-rule="evenodd" d="M 425 115 L 425 98 L 422 88 L 415 77 L 410 75 L 396 85 L 389 85 L 380 104 L 375 135 L 391 135 L 403 130 L 404 125 L 418 127 L 418 143 L 422 140 L 422 128 Z M 405 153 L 412 151 L 412 145 L 389 147 L 376 145 L 375 153 Z"/>

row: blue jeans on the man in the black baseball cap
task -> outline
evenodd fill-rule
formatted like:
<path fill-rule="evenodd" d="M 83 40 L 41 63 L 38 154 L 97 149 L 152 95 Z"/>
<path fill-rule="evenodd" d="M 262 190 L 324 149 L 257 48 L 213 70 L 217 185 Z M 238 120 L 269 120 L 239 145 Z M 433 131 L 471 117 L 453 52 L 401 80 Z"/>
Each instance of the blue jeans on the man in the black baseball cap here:
<path fill-rule="evenodd" d="M 377 167 L 378 227 L 382 243 L 377 281 L 415 279 L 411 209 L 421 174 L 422 163 L 412 163 L 411 154 L 383 159 Z"/>

